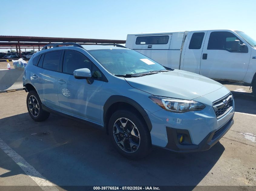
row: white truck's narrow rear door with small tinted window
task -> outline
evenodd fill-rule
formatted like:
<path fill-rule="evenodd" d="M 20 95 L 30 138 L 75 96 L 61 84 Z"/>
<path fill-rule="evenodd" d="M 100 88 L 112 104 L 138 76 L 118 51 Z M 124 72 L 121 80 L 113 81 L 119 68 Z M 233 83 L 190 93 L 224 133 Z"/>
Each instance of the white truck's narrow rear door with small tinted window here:
<path fill-rule="evenodd" d="M 181 53 L 181 70 L 200 73 L 201 54 L 206 34 L 207 31 L 193 31 L 185 39 L 186 47 L 183 47 L 185 51 Z"/>

